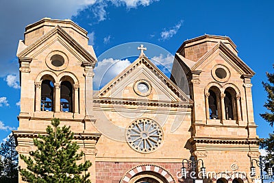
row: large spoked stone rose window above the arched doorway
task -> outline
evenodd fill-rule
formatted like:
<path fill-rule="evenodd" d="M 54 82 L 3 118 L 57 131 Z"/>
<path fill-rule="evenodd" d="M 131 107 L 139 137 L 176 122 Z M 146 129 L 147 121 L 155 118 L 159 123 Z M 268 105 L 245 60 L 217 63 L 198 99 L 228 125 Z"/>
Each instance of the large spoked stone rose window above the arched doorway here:
<path fill-rule="evenodd" d="M 127 143 L 142 153 L 155 151 L 162 143 L 162 128 L 151 119 L 137 119 L 126 131 Z"/>

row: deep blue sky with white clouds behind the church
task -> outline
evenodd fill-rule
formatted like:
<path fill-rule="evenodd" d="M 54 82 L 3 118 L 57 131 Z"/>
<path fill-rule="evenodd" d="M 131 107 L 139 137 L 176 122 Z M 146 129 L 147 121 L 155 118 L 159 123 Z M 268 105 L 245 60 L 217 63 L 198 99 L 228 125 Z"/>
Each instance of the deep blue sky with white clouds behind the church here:
<path fill-rule="evenodd" d="M 0 139 L 18 127 L 20 87 L 16 49 L 25 26 L 47 16 L 72 19 L 84 27 L 90 44 L 100 56 L 125 42 L 150 42 L 172 55 L 184 40 L 203 34 L 229 36 L 238 46 L 238 56 L 256 75 L 252 78 L 253 108 L 258 135 L 273 132 L 261 117 L 266 93 L 265 72 L 274 72 L 273 1 L 182 1 L 182 0 L 10 0 L 0 2 Z M 14 13 L 15 12 L 15 13 Z M 138 52 L 137 52 L 138 53 Z M 152 57 L 152 56 L 151 56 Z M 160 58 L 160 56 L 155 56 Z M 121 58 L 120 58 L 121 59 Z M 116 61 L 115 61 L 116 60 Z M 160 58 L 170 64 L 169 55 Z M 120 70 L 130 63 L 118 58 Z M 99 67 L 98 67 L 99 68 Z M 112 75 L 119 73 L 114 69 Z"/>

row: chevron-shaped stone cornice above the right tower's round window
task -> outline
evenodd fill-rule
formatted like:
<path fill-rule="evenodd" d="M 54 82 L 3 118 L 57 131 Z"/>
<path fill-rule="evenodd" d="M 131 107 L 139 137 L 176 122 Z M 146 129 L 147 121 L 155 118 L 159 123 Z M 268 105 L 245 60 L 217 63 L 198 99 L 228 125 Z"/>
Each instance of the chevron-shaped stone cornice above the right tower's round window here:
<path fill-rule="evenodd" d="M 191 66 L 191 71 L 202 71 L 203 66 L 206 66 L 212 58 L 217 55 L 228 62 L 240 75 L 255 75 L 255 72 L 245 64 L 234 52 L 232 52 L 223 42 L 218 42 L 212 49 L 204 54 L 194 65 Z"/>

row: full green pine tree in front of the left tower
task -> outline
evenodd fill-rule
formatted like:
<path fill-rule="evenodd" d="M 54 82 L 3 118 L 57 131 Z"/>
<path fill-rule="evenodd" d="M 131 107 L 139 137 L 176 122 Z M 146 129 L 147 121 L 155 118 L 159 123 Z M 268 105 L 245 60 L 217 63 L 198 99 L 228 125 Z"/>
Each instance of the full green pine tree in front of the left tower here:
<path fill-rule="evenodd" d="M 20 155 L 27 164 L 27 169 L 20 169 L 22 178 L 26 182 L 90 182 L 86 173 L 91 166 L 87 160 L 77 164 L 84 153 L 77 154 L 79 146 L 73 142 L 73 132 L 70 127 L 60 127 L 60 120 L 51 120 L 47 126 L 47 135 L 34 138 L 36 151 L 30 151 L 29 157 Z"/>

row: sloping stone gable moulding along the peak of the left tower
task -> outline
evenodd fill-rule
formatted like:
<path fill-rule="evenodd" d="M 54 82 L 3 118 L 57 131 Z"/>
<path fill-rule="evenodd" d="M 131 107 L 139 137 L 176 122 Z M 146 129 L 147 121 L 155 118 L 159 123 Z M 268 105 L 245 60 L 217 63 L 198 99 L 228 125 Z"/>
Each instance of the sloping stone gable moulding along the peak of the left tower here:
<path fill-rule="evenodd" d="M 66 33 L 66 31 L 64 31 L 64 29 L 60 27 L 60 25 L 55 26 L 53 29 L 51 29 L 50 32 L 47 32 L 47 34 L 45 34 L 44 36 L 36 40 L 34 43 L 32 43 L 32 45 L 29 45 L 26 48 L 23 47 L 23 50 L 20 50 L 18 48 L 18 51 L 20 51 L 20 53 L 17 53 L 17 57 L 24 58 L 25 56 L 27 56 L 27 54 L 29 54 L 34 49 L 42 45 L 44 42 L 49 40 L 49 38 L 51 38 L 55 34 L 58 34 L 58 36 L 61 36 L 64 40 L 66 40 L 66 42 L 69 43 L 69 45 L 71 45 L 75 50 L 77 50 L 78 53 L 80 53 L 86 59 L 86 62 L 84 62 L 83 64 L 95 66 L 97 62 L 95 53 L 91 54 L 86 49 L 84 49 L 84 47 L 79 45 L 79 43 L 75 39 L 73 39 L 68 33 Z M 23 42 L 19 42 L 19 47 L 20 46 L 22 47 L 22 43 Z"/>

